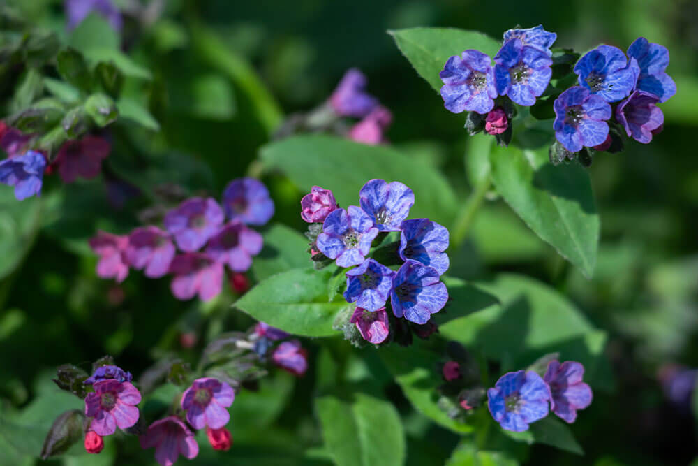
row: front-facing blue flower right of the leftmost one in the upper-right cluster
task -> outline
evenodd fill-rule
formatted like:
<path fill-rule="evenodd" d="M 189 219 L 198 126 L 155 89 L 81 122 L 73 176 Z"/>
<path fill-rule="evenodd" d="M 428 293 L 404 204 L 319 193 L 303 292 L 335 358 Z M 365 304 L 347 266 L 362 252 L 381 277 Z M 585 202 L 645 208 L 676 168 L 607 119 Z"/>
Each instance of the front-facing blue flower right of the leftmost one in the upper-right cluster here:
<path fill-rule="evenodd" d="M 519 105 L 530 107 L 548 87 L 553 61 L 540 48 L 525 45 L 521 39 L 507 41 L 494 57 L 494 80 L 500 96 L 509 96 Z"/>

